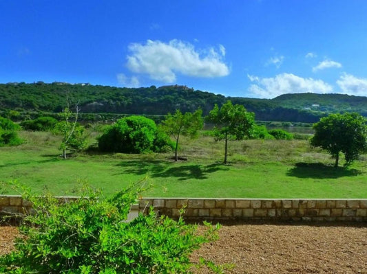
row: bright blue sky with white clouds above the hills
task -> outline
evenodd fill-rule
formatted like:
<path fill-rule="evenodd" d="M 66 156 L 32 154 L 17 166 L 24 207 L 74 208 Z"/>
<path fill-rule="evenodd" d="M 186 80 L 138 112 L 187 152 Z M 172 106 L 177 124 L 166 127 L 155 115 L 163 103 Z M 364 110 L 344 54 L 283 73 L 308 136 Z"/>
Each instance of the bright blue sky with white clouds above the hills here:
<path fill-rule="evenodd" d="M 0 0 L 0 82 L 367 96 L 367 1 Z"/>

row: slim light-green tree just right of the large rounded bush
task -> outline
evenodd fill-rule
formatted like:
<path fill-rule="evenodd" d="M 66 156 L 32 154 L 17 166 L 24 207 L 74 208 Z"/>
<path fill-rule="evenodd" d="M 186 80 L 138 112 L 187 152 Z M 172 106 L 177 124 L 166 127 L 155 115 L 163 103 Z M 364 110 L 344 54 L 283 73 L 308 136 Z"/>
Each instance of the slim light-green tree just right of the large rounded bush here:
<path fill-rule="evenodd" d="M 201 115 L 201 109 L 198 109 L 194 113 L 187 112 L 185 114 L 182 114 L 180 110 L 176 110 L 174 115 L 168 113 L 166 119 L 162 122 L 163 131 L 176 140 L 175 161 L 178 160 L 177 150 L 180 135 L 189 136 L 191 139 L 197 137 L 198 130 L 204 125 L 204 120 Z"/>

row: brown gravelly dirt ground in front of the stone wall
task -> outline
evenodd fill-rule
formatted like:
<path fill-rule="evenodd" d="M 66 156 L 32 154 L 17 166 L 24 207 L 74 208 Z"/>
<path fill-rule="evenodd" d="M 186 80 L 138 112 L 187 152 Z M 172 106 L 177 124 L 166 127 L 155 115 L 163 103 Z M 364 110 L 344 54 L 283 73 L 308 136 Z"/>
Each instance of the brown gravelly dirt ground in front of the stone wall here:
<path fill-rule="evenodd" d="M 0 254 L 13 248 L 15 227 L 0 227 Z M 219 240 L 193 253 L 217 264 L 235 264 L 227 273 L 367 274 L 367 224 L 232 224 Z M 198 273 L 205 273 L 200 270 Z"/>

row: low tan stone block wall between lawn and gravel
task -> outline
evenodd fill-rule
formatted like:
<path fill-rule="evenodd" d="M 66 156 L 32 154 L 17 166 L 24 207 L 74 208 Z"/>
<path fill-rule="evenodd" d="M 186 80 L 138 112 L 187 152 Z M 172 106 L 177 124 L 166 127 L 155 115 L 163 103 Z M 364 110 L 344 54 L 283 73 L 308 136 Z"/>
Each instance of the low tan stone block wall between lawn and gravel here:
<path fill-rule="evenodd" d="M 150 205 L 172 218 L 178 218 L 183 208 L 187 219 L 367 221 L 367 199 L 143 198 L 132 205 L 129 218 L 147 212 Z M 23 214 L 32 212 L 32 205 L 21 196 L 0 195 L 0 212 Z"/>

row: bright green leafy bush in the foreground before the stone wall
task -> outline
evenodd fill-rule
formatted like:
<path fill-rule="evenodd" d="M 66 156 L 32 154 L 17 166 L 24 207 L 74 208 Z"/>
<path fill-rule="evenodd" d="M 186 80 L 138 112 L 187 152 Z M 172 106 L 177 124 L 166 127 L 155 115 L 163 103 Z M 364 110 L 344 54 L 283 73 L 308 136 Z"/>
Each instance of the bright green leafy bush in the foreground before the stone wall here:
<path fill-rule="evenodd" d="M 182 218 L 158 217 L 153 209 L 127 222 L 139 191 L 132 185 L 101 198 L 87 187 L 67 203 L 25 191 L 36 214 L 25 216 L 16 250 L 0 257 L 0 273 L 187 273 L 189 254 L 218 238 L 219 226 L 206 224 L 199 234 Z M 220 273 L 220 266 L 200 261 Z"/>

